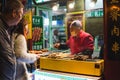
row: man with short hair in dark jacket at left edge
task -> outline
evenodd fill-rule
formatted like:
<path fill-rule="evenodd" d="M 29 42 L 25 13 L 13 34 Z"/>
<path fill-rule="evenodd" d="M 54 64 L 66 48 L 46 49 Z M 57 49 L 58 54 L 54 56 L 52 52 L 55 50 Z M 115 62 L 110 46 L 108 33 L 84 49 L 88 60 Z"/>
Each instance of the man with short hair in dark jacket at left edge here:
<path fill-rule="evenodd" d="M 12 26 L 22 19 L 23 8 L 20 0 L 6 0 L 4 11 L 0 15 L 0 80 L 15 80 L 16 57 Z"/>

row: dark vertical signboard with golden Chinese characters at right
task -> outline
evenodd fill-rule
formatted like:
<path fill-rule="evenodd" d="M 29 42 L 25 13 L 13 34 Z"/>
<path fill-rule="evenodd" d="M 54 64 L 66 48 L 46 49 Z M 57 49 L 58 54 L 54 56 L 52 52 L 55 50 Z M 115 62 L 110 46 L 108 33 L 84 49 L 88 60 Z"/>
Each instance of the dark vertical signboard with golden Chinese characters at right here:
<path fill-rule="evenodd" d="M 107 2 L 107 51 L 110 60 L 120 60 L 120 1 Z"/>

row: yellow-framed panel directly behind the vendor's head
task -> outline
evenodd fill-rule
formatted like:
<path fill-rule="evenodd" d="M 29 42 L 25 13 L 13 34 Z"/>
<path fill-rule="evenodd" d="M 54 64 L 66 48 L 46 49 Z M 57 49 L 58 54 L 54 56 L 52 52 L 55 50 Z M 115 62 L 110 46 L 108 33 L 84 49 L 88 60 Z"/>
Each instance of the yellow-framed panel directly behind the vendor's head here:
<path fill-rule="evenodd" d="M 78 13 L 68 13 L 66 16 L 66 26 L 67 26 L 67 38 L 69 39 L 70 37 L 70 24 L 74 20 L 80 20 L 83 23 L 83 30 L 84 30 L 84 16 L 83 12 L 78 12 Z"/>

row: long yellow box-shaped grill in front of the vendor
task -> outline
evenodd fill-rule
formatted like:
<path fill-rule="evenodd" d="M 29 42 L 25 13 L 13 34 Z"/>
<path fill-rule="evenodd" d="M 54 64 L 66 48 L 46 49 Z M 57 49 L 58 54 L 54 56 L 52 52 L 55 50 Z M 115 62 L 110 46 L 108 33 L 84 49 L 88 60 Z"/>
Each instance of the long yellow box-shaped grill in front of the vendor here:
<path fill-rule="evenodd" d="M 101 76 L 103 72 L 103 60 L 78 61 L 71 59 L 40 58 L 40 69 Z"/>

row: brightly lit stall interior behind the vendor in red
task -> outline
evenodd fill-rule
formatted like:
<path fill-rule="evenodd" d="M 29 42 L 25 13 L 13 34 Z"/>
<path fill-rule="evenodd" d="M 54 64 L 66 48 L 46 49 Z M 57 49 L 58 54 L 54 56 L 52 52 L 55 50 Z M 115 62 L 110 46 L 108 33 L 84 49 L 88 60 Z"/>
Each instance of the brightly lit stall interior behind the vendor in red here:
<path fill-rule="evenodd" d="M 76 4 L 80 3 L 80 4 Z M 76 9 L 76 10 L 75 10 Z M 69 14 L 83 14 L 83 29 L 94 37 L 95 54 L 99 56 L 99 50 L 103 45 L 103 0 L 60 0 L 60 1 L 36 1 L 32 6 L 33 15 L 43 18 L 43 47 L 33 45 L 32 49 L 39 50 L 53 47 L 53 31 L 57 29 L 61 35 L 61 42 L 65 43 L 68 37 L 66 19 Z M 48 37 L 49 36 L 49 37 Z"/>

